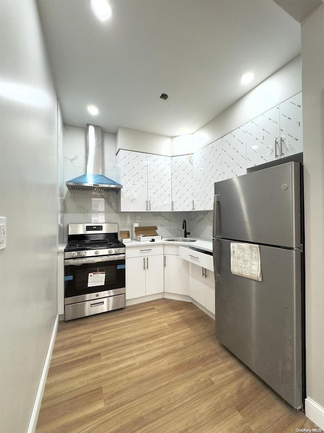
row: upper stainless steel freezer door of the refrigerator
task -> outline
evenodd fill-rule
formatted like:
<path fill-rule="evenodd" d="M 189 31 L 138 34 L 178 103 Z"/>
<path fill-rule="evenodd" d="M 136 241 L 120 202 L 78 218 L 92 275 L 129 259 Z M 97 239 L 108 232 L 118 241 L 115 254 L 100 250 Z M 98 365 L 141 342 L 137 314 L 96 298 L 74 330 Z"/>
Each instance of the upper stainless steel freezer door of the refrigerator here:
<path fill-rule="evenodd" d="M 300 170 L 299 162 L 288 162 L 216 182 L 214 236 L 300 248 Z"/>

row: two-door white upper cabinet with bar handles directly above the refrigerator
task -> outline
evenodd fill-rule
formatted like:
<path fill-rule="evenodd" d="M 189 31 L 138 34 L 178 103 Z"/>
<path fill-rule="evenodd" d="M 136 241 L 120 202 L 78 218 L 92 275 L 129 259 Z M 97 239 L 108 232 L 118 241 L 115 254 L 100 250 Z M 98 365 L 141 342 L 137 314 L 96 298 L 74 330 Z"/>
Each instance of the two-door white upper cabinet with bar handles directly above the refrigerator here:
<path fill-rule="evenodd" d="M 247 167 L 303 151 L 302 93 L 247 123 Z"/>

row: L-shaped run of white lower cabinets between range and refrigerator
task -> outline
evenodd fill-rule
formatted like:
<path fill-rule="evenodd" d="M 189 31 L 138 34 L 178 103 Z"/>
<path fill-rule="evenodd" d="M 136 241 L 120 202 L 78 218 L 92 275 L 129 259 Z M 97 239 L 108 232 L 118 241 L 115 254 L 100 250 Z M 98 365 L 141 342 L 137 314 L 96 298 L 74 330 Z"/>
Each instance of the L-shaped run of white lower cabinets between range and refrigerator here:
<path fill-rule="evenodd" d="M 190 296 L 215 314 L 215 282 L 211 269 L 211 255 L 186 247 L 143 245 L 126 248 L 126 299 L 163 292 L 166 297 L 183 301 L 190 301 Z"/>

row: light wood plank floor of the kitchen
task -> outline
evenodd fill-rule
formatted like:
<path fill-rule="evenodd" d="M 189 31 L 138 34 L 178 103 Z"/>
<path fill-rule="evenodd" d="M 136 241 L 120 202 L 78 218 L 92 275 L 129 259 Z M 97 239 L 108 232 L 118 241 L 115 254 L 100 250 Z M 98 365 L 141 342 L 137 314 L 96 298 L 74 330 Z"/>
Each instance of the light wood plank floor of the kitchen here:
<path fill-rule="evenodd" d="M 315 428 L 214 336 L 192 304 L 158 299 L 60 322 L 36 433 Z"/>

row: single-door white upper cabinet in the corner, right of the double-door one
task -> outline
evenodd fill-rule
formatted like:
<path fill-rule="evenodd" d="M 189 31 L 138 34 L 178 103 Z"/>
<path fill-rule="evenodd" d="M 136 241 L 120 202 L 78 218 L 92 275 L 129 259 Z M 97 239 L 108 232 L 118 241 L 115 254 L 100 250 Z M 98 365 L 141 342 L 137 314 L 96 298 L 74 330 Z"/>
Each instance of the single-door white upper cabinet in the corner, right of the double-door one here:
<path fill-rule="evenodd" d="M 172 210 L 193 210 L 192 155 L 173 156 L 171 160 Z"/>

